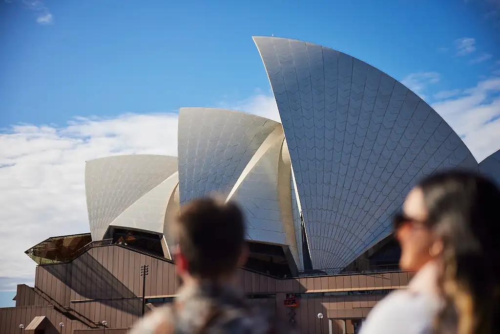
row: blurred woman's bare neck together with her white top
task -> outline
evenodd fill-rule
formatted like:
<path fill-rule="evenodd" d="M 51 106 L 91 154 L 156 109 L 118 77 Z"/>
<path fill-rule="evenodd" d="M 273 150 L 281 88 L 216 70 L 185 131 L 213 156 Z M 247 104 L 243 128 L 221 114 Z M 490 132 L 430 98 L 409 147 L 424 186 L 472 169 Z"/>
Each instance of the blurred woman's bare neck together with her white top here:
<path fill-rule="evenodd" d="M 391 292 L 378 302 L 361 325 L 360 334 L 427 334 L 440 306 L 437 265 L 424 265 L 407 289 Z"/>

